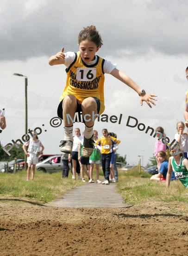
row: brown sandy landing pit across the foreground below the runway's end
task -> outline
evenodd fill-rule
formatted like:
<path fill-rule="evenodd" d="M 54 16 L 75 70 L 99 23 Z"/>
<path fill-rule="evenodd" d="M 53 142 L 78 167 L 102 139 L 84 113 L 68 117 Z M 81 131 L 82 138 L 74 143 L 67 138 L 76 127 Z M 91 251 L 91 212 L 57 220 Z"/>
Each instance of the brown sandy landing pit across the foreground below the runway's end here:
<path fill-rule="evenodd" d="M 52 208 L 0 200 L 1 256 L 188 255 L 188 204 Z"/>

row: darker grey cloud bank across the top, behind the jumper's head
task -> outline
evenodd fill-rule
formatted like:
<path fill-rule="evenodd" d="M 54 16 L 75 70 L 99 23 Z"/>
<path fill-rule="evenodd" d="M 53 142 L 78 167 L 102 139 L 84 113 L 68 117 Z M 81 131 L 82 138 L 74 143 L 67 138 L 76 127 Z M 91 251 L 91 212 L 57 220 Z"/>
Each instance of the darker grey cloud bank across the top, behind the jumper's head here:
<path fill-rule="evenodd" d="M 24 2 L 2 4 L 1 61 L 50 56 L 62 46 L 76 51 L 78 32 L 91 24 L 102 35 L 101 54 L 145 54 L 151 49 L 170 55 L 188 53 L 186 0 L 46 0 L 28 15 Z"/>

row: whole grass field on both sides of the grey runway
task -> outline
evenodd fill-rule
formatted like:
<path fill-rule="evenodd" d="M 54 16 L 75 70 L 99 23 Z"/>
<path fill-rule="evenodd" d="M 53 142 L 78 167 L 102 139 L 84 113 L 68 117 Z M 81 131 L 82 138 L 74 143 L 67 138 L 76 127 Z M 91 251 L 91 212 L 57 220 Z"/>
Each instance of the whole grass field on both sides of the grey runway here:
<path fill-rule="evenodd" d="M 116 189 L 125 203 L 188 202 L 188 190 L 181 182 L 171 182 L 170 187 L 166 188 L 166 182 L 150 182 L 150 176 L 144 172 L 139 174 L 138 169 L 129 172 L 119 170 Z M 103 178 L 101 170 L 100 178 Z M 81 180 L 73 181 L 71 173 L 69 178 L 62 179 L 61 172 L 48 174 L 36 171 L 35 180 L 29 182 L 26 181 L 26 171 L 19 171 L 15 175 L 0 173 L 0 198 L 14 197 L 46 203 L 82 184 Z"/>

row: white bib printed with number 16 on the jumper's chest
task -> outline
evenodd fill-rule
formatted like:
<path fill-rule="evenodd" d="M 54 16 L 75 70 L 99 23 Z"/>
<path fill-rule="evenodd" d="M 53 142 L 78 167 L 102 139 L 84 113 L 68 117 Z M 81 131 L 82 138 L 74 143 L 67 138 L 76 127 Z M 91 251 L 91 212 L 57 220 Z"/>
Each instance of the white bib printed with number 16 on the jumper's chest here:
<path fill-rule="evenodd" d="M 77 81 L 92 81 L 96 77 L 96 67 L 77 67 Z"/>

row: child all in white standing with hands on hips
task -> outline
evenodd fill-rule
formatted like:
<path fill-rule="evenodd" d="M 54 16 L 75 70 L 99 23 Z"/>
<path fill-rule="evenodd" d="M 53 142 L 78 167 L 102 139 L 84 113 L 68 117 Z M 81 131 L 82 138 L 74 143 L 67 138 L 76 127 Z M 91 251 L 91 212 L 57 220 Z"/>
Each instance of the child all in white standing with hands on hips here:
<path fill-rule="evenodd" d="M 34 175 L 35 175 L 35 166 L 38 162 L 38 155 L 41 155 L 44 150 L 43 144 L 41 143 L 41 141 L 38 140 L 38 136 L 33 131 L 32 131 L 32 135 L 33 135 L 32 139 L 25 142 L 25 144 L 23 145 L 25 155 L 27 155 L 27 164 L 28 164 L 27 181 L 29 181 L 30 179 L 31 165 L 32 165 L 31 180 L 33 181 Z M 26 151 L 27 146 L 29 147 Z M 40 151 L 40 147 L 42 148 L 41 151 Z"/>

